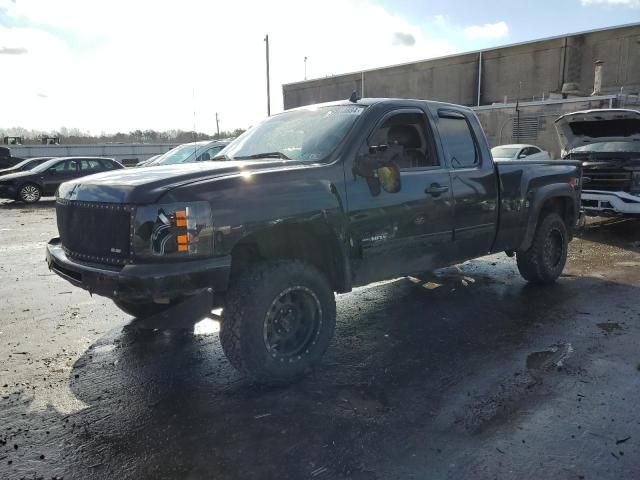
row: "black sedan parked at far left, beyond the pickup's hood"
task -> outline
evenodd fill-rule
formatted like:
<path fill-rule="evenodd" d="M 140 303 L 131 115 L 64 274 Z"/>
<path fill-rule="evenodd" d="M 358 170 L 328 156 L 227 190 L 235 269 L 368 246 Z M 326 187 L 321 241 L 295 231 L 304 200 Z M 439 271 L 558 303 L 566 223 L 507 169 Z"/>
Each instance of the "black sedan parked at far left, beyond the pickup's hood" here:
<path fill-rule="evenodd" d="M 33 203 L 40 197 L 55 194 L 67 180 L 124 168 L 112 158 L 62 157 L 47 160 L 26 172 L 0 177 L 0 198 Z"/>

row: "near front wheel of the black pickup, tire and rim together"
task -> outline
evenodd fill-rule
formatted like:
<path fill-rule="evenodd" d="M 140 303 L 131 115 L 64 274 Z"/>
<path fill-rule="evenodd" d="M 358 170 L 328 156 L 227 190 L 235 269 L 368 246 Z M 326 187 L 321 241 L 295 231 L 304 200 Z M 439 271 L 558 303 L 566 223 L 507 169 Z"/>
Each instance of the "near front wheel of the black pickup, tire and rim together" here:
<path fill-rule="evenodd" d="M 333 290 L 296 260 L 255 264 L 227 291 L 220 341 L 231 364 L 259 383 L 284 384 L 322 358 L 336 323 Z"/>

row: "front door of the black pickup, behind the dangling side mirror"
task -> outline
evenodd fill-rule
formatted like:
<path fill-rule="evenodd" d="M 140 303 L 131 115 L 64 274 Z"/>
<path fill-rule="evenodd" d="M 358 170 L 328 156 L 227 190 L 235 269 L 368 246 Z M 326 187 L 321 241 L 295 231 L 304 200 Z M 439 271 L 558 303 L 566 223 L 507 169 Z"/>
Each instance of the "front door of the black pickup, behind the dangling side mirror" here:
<path fill-rule="evenodd" d="M 436 153 L 424 111 L 385 115 L 360 148 L 399 145 L 400 191 L 372 193 L 365 178 L 347 181 L 355 283 L 428 271 L 446 263 L 453 240 L 451 179 Z M 355 161 L 355 159 L 354 159 Z M 347 172 L 351 175 L 351 172 Z"/>

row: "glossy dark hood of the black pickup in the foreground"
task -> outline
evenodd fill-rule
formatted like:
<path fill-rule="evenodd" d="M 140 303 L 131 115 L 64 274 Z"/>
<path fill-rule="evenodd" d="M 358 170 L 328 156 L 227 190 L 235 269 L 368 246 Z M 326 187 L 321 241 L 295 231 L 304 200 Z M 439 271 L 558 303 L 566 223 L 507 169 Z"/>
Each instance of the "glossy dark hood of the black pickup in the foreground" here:
<path fill-rule="evenodd" d="M 148 168 L 125 168 L 63 183 L 58 197 L 104 203 L 154 203 L 169 190 L 194 182 L 246 172 L 300 168 L 293 160 L 245 160 L 186 163 Z"/>

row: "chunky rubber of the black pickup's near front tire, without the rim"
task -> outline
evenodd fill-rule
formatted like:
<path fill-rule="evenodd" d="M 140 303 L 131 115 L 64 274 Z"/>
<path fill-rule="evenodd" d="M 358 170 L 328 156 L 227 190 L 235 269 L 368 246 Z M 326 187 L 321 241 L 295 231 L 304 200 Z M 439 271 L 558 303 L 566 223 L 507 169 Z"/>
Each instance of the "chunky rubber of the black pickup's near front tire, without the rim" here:
<path fill-rule="evenodd" d="M 310 295 L 320 310 L 316 327 L 300 354 L 270 351 L 267 318 L 287 291 Z M 319 321 L 317 321 L 319 319 Z M 233 278 L 227 291 L 220 341 L 231 364 L 253 381 L 287 384 L 307 374 L 324 355 L 336 324 L 336 303 L 327 278 L 314 266 L 298 260 L 256 263 Z"/>

